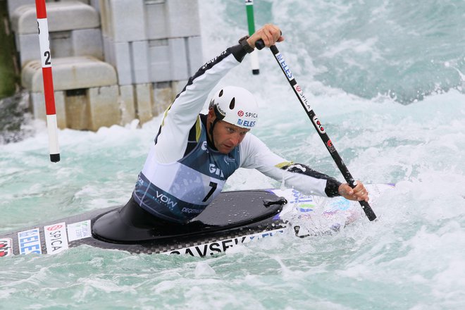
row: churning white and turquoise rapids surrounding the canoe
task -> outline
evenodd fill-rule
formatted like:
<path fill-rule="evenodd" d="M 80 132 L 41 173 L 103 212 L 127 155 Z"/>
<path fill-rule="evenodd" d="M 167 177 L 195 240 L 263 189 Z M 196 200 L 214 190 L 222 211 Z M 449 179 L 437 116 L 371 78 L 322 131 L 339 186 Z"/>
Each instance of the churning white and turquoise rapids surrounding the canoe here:
<path fill-rule="evenodd" d="M 257 25 L 283 27 L 278 47 L 352 175 L 397 183 L 378 199 L 378 221 L 205 259 L 90 247 L 14 256 L 0 261 L 3 307 L 465 308 L 464 5 L 255 2 Z M 200 8 L 206 61 L 247 32 L 245 10 L 220 0 Z M 341 179 L 271 53 L 260 62 L 261 75 L 246 61 L 221 82 L 256 94 L 263 112 L 254 134 Z M 44 124 L 28 123 L 35 135 L 0 145 L 0 231 L 125 203 L 160 123 L 60 130 L 60 163 L 49 163 Z M 240 170 L 226 188 L 280 186 Z"/>

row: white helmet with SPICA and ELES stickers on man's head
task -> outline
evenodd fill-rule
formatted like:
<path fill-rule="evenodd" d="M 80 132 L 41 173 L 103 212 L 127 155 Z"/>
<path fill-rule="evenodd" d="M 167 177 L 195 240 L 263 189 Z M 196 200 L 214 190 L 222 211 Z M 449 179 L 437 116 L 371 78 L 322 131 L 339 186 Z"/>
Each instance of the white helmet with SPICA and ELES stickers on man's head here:
<path fill-rule="evenodd" d="M 250 129 L 259 118 L 259 105 L 254 95 L 242 87 L 227 86 L 220 89 L 210 101 L 217 120 Z"/>

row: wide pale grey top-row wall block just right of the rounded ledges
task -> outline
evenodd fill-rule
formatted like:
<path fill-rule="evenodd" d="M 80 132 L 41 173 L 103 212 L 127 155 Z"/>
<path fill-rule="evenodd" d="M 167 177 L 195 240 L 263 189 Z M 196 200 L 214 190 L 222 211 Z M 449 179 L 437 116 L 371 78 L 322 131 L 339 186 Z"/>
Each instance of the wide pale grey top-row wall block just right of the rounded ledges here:
<path fill-rule="evenodd" d="M 144 27 L 144 0 L 108 0 L 106 30 L 114 42 L 142 41 Z"/>

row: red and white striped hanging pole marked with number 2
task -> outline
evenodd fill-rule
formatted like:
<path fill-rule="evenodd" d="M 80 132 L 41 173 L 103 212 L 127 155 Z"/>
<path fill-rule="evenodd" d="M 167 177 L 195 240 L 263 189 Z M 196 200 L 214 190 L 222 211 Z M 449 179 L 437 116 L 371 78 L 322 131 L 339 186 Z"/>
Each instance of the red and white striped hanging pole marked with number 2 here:
<path fill-rule="evenodd" d="M 45 0 L 35 0 L 37 11 L 37 27 L 39 28 L 40 58 L 42 77 L 44 79 L 44 97 L 46 111 L 46 127 L 49 132 L 50 161 L 60 161 L 58 149 L 58 128 L 56 122 L 54 80 L 51 74 L 51 54 L 49 42 L 49 24 L 46 19 Z"/>

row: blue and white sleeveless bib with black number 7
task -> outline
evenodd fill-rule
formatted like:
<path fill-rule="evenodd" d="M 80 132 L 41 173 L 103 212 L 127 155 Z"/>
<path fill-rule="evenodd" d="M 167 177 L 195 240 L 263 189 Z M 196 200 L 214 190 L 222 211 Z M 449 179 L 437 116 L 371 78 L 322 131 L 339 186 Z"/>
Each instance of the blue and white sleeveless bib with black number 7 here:
<path fill-rule="evenodd" d="M 209 147 L 202 124 L 197 146 L 182 159 L 174 163 L 159 163 L 156 159 L 145 163 L 133 196 L 149 213 L 167 221 L 187 223 L 218 196 L 239 163 L 238 147 L 229 154 Z"/>

